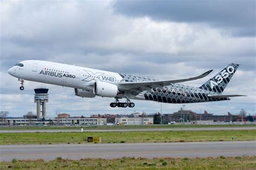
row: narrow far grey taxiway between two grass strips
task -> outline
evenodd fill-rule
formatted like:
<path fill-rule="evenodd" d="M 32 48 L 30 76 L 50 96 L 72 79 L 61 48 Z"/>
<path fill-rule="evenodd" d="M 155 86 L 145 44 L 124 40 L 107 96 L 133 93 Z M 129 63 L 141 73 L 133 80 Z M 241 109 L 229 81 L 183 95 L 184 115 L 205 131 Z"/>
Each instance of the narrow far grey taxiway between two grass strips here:
<path fill-rule="evenodd" d="M 203 130 L 256 130 L 250 127 L 220 127 L 220 128 L 146 128 L 146 129 L 86 129 L 84 132 L 125 132 L 125 131 L 203 131 Z M 37 129 L 37 130 L 1 130 L 0 133 L 32 133 L 32 132 L 80 132 L 80 129 Z"/>

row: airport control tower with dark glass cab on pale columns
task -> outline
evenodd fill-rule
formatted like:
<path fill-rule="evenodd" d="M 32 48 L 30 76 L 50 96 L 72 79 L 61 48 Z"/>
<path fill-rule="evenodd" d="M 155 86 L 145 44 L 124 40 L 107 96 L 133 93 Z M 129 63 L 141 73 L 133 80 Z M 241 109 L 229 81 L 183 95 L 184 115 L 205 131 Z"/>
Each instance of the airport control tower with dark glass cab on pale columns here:
<path fill-rule="evenodd" d="M 36 103 L 36 115 L 37 119 L 41 118 L 41 105 L 43 117 L 46 118 L 46 103 L 48 103 L 48 90 L 45 88 L 38 88 L 35 90 L 35 103 Z"/>

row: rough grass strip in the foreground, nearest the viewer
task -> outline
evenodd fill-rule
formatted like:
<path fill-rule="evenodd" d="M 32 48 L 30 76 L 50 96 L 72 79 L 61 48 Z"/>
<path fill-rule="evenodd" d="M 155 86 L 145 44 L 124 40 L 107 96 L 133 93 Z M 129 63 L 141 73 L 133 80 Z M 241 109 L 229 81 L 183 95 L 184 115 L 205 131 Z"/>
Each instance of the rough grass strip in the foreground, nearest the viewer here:
<path fill-rule="evenodd" d="M 0 162 L 0 169 L 255 169 L 254 157 L 218 158 L 119 158 L 52 161 L 16 160 Z"/>

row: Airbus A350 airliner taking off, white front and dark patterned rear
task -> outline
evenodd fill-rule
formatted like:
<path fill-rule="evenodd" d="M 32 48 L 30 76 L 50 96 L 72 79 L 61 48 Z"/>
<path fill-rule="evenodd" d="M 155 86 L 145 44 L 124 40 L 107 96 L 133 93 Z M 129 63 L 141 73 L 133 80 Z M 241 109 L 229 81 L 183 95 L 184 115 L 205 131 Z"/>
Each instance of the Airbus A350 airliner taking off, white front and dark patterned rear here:
<path fill-rule="evenodd" d="M 110 103 L 112 108 L 133 108 L 135 104 L 130 100 L 199 103 L 226 101 L 231 100 L 231 97 L 244 96 L 222 95 L 238 66 L 235 63 L 228 64 L 200 87 L 190 87 L 180 82 L 201 79 L 210 74 L 212 70 L 188 79 L 159 81 L 64 63 L 25 60 L 11 67 L 8 73 L 21 81 L 20 90 L 24 90 L 24 80 L 55 84 L 74 88 L 75 95 L 80 97 L 113 97 L 115 101 Z M 126 98 L 126 102 L 119 102 L 122 98 Z"/>

